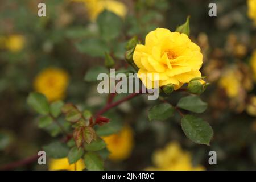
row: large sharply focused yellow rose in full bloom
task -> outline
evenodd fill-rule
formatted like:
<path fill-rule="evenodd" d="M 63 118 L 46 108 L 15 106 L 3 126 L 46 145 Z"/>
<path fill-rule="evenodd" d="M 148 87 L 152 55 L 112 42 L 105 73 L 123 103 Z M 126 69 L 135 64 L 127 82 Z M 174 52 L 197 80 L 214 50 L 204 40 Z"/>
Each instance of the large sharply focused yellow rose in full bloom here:
<path fill-rule="evenodd" d="M 133 60 L 145 86 L 147 79 L 143 80 L 141 74 L 154 81 L 151 74 L 159 73 L 159 86 L 174 84 L 177 90 L 192 78 L 201 77 L 203 55 L 187 35 L 156 28 L 147 34 L 145 45 L 137 44 Z"/>

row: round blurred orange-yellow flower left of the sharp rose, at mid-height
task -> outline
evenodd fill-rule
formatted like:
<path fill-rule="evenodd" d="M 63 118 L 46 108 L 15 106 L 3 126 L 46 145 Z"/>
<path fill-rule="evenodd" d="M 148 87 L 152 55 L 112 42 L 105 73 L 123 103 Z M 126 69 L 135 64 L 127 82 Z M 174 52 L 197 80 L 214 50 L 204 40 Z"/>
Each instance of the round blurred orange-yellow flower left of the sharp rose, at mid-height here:
<path fill-rule="evenodd" d="M 63 69 L 47 68 L 35 77 L 34 89 L 49 101 L 61 100 L 65 97 L 68 81 L 68 73 Z"/>

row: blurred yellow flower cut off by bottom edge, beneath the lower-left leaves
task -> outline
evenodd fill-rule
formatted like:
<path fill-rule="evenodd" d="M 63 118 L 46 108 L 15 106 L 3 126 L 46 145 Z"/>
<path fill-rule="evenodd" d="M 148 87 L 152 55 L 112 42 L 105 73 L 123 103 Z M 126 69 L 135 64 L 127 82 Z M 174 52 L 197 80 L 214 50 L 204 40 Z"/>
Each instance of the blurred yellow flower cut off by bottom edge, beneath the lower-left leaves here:
<path fill-rule="evenodd" d="M 84 169 L 85 169 L 85 164 L 82 159 L 79 159 L 74 164 L 69 164 L 68 158 L 51 159 L 49 161 L 49 170 L 50 171 L 59 171 L 59 170 L 82 171 Z"/>

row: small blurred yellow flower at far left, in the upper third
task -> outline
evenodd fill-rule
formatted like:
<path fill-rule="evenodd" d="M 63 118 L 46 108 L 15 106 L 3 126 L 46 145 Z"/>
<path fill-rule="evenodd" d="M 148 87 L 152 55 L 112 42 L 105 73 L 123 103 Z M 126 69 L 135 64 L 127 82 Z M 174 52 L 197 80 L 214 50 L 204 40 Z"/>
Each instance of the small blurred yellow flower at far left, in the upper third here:
<path fill-rule="evenodd" d="M 11 35 L 5 40 L 5 47 L 11 52 L 19 52 L 23 49 L 25 43 L 24 36 Z"/>

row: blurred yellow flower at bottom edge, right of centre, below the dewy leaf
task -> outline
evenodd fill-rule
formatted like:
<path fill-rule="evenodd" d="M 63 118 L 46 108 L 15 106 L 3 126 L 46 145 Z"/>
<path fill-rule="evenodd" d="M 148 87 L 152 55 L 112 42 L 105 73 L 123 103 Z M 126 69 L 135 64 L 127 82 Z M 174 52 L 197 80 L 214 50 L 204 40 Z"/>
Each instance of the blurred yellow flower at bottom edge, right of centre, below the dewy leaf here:
<path fill-rule="evenodd" d="M 189 152 L 183 151 L 179 143 L 171 142 L 163 150 L 154 152 L 152 156 L 155 167 L 148 167 L 147 170 L 161 171 L 201 171 L 203 166 L 193 167 L 192 158 Z"/>

